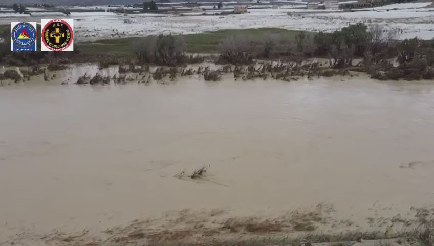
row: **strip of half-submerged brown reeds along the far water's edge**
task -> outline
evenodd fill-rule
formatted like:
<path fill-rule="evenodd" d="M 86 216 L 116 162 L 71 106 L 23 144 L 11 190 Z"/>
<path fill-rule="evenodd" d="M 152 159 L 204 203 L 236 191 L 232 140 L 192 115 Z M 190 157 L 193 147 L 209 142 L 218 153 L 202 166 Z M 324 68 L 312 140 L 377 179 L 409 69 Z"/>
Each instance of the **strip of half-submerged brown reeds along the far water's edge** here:
<path fill-rule="evenodd" d="M 360 71 L 330 69 L 326 59 L 310 59 L 303 63 L 257 61 L 249 65 L 220 65 L 206 58 L 197 64 L 182 67 L 107 65 L 101 63 L 48 65 L 32 67 L 4 67 L 0 69 L 0 86 L 26 85 L 91 85 L 176 84 L 185 79 L 206 81 L 313 80 L 320 77 L 351 78 L 365 75 Z"/>

